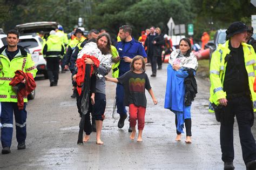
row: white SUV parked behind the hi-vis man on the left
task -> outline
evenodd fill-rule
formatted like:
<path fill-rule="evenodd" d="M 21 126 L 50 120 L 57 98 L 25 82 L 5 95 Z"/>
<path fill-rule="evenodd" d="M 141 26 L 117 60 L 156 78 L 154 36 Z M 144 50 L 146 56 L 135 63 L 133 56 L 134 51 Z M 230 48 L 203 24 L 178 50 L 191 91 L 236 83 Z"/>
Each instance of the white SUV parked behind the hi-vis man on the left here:
<path fill-rule="evenodd" d="M 42 55 L 43 40 L 36 34 L 19 36 L 19 43 L 24 49 L 31 54 L 35 66 L 37 67 L 37 74 L 44 74 L 45 79 L 48 78 L 46 70 L 46 61 Z"/>

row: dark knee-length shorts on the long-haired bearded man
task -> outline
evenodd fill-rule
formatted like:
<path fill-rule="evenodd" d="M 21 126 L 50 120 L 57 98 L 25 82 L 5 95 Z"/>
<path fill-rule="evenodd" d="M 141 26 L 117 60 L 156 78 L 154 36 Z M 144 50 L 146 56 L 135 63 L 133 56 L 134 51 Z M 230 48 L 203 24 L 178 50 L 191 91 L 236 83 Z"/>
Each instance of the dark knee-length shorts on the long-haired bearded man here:
<path fill-rule="evenodd" d="M 93 105 L 92 116 L 95 120 L 104 120 L 106 108 L 106 95 L 103 93 L 95 93 L 95 105 Z"/>

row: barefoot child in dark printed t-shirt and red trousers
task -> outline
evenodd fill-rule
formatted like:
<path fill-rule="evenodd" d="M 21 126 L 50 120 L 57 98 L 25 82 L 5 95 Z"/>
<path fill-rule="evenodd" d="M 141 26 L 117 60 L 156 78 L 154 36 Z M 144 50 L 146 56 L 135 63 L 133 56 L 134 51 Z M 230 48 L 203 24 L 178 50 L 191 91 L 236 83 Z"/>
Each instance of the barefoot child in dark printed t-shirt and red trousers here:
<path fill-rule="evenodd" d="M 145 125 L 145 112 L 147 105 L 145 89 L 149 91 L 153 103 L 155 105 L 157 104 L 157 99 L 154 97 L 149 78 L 145 73 L 145 62 L 143 57 L 134 57 L 131 63 L 131 70 L 126 72 L 123 76 L 118 78 L 105 77 L 105 79 L 107 81 L 120 83 L 124 86 L 124 103 L 125 106 L 129 106 L 130 126 L 132 127 L 130 138 L 133 140 L 136 135 L 135 126 L 136 120 L 138 119 L 139 134 L 137 141 L 142 141 L 142 131 Z"/>

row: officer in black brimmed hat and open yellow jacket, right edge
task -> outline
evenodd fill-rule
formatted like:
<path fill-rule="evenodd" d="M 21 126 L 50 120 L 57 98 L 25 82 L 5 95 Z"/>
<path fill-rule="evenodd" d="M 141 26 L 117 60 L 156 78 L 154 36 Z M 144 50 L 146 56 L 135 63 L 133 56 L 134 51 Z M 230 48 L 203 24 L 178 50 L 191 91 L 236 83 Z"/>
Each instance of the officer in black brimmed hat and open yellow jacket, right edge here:
<path fill-rule="evenodd" d="M 232 23 L 227 41 L 214 51 L 210 67 L 211 103 L 220 109 L 220 146 L 224 169 L 234 169 L 233 126 L 237 118 L 242 158 L 247 169 L 256 168 L 255 139 L 251 127 L 256 111 L 256 93 L 253 90 L 256 55 L 245 42 L 247 26 Z M 217 114 L 217 110 L 215 110 Z"/>

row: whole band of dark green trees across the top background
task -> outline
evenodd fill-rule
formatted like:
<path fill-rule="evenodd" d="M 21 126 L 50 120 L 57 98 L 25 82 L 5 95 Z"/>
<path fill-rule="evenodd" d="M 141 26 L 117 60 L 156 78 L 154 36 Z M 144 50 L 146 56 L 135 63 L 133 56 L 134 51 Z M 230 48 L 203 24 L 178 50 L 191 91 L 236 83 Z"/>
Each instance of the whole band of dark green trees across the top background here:
<path fill-rule="evenodd" d="M 133 36 L 151 25 L 167 33 L 167 22 L 194 24 L 194 40 L 200 40 L 204 31 L 225 29 L 234 21 L 251 25 L 255 7 L 250 0 L 92 0 L 92 13 L 84 11 L 80 0 L 0 0 L 2 28 L 12 29 L 17 24 L 56 21 L 65 31 L 77 25 L 78 17 L 85 19 L 87 29 L 106 29 L 116 36 L 121 25 L 133 27 Z M 8 4 L 8 5 L 7 5 Z M 253 13 L 254 12 L 254 13 Z M 187 30 L 186 30 L 187 31 Z M 187 36 L 187 35 L 186 35 Z"/>

